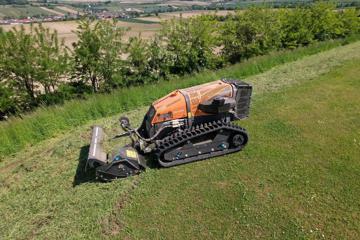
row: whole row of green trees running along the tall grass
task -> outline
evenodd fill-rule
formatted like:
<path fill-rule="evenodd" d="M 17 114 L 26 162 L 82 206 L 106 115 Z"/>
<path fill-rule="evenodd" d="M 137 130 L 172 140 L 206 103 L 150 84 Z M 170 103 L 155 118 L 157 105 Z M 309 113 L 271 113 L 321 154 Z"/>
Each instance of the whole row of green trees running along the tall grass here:
<path fill-rule="evenodd" d="M 217 69 L 270 51 L 359 33 L 359 10 L 329 11 L 317 1 L 294 9 L 250 5 L 226 17 L 204 14 L 161 20 L 149 39 L 123 36 L 117 20 L 78 20 L 72 49 L 42 24 L 0 31 L 0 118 L 41 104 L 60 104 Z M 218 21 L 222 19 L 223 22 Z"/>

